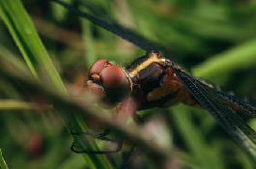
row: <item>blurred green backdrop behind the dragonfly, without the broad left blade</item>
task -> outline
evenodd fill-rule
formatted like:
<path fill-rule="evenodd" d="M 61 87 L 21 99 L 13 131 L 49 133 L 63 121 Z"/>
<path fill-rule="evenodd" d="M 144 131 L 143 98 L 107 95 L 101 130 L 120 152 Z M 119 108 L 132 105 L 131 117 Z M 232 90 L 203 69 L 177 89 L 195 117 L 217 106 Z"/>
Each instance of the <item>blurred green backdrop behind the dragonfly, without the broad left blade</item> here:
<path fill-rule="evenodd" d="M 81 97 L 87 78 L 84 74 L 96 60 L 107 58 L 126 67 L 145 53 L 49 1 L 23 0 L 22 4 L 74 98 Z M 174 60 L 185 70 L 256 105 L 255 0 L 100 0 L 93 4 L 100 13 L 172 49 L 176 53 Z M 18 58 L 24 64 L 24 54 L 3 20 L 0 19 L 0 56 Z M 27 43 L 29 48 L 33 42 Z M 33 60 L 32 65 L 36 67 Z M 43 70 L 38 73 L 42 79 Z M 92 168 L 82 155 L 71 153 L 71 135 L 47 98 L 2 76 L 0 98 L 0 148 L 10 168 Z M 16 110 L 10 99 L 39 102 L 42 107 Z M 168 116 L 167 132 L 171 134 L 173 155 L 177 155 L 176 168 L 253 168 L 207 112 L 178 105 L 140 114 L 154 116 L 156 112 Z M 256 128 L 255 120 L 244 119 Z M 121 165 L 121 156 L 122 153 L 110 156 L 118 158 L 110 160 L 113 166 Z M 145 168 L 149 167 L 153 166 L 146 160 Z"/>

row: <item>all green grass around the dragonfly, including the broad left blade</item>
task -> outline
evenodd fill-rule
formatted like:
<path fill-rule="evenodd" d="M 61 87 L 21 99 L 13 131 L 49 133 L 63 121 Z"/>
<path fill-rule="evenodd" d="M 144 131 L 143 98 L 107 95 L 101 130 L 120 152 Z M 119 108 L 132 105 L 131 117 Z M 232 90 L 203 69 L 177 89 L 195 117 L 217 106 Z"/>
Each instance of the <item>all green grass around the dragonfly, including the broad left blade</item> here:
<path fill-rule="evenodd" d="M 95 6 L 171 47 L 178 64 L 194 75 L 246 96 L 255 105 L 256 4 L 252 0 L 114 2 L 99 1 Z M 83 157 L 71 153 L 69 129 L 85 130 L 84 120 L 92 117 L 138 144 L 142 152 L 166 155 L 146 140 L 149 134 L 141 134 L 149 132 L 145 128 L 132 123 L 122 127 L 100 107 L 75 101 L 86 96 L 82 93 L 86 77 L 81 72 L 87 74 L 97 59 L 107 58 L 125 67 L 144 51 L 47 1 L 0 0 L 0 18 L 0 148 L 10 168 L 120 166 L 123 152 Z M 154 114 L 151 120 L 168 119 L 166 133 L 158 137 L 170 134 L 173 138 L 167 154 L 176 168 L 253 168 L 206 111 L 184 105 L 170 111 L 145 113 Z M 74 139 L 98 149 L 91 139 L 85 143 Z M 150 154 L 147 168 L 157 168 L 153 159 Z"/>

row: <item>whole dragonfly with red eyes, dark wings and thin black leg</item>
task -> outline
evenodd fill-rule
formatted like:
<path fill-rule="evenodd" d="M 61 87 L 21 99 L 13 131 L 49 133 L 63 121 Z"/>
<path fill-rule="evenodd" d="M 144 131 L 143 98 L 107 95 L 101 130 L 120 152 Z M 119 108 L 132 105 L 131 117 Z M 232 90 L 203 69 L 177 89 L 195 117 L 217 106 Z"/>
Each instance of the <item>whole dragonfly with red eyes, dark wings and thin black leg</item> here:
<path fill-rule="evenodd" d="M 242 148 L 243 152 L 256 163 L 256 132 L 238 114 L 238 112 L 242 112 L 256 116 L 256 107 L 218 90 L 206 80 L 192 76 L 178 64 L 172 62 L 171 57 L 174 53 L 171 50 L 121 26 L 117 21 L 94 10 L 89 4 L 75 0 L 89 10 L 90 14 L 61 0 L 52 1 L 146 51 L 144 56 L 133 61 L 126 69 L 116 66 L 106 59 L 100 59 L 92 65 L 85 87 L 97 94 L 100 102 L 104 102 L 104 104 L 100 104 L 103 108 L 114 108 L 118 105 L 116 113 L 119 113 L 121 109 L 124 109 L 123 107 L 129 107 L 129 115 L 139 121 L 137 110 L 167 107 L 179 102 L 201 107 L 213 116 L 215 121 Z M 122 111 L 122 113 L 126 114 L 127 112 Z M 90 134 L 89 132 L 72 134 L 87 134 L 97 139 L 122 144 L 122 141 L 118 139 L 107 138 L 109 132 L 110 130 L 106 129 L 101 134 Z M 118 146 L 110 153 L 117 153 L 121 149 L 122 146 Z M 74 145 L 71 150 L 87 154 L 107 153 L 103 151 L 79 152 L 75 150 Z"/>

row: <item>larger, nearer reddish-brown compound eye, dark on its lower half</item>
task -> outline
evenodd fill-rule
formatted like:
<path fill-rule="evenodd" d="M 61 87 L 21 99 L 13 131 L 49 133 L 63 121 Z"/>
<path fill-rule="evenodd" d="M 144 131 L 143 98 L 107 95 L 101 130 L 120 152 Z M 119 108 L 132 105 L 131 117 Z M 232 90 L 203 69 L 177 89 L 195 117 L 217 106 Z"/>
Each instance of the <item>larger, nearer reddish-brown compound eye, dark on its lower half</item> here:
<path fill-rule="evenodd" d="M 100 72 L 100 79 L 108 97 L 115 101 L 128 99 L 131 89 L 124 70 L 118 66 L 109 66 Z"/>

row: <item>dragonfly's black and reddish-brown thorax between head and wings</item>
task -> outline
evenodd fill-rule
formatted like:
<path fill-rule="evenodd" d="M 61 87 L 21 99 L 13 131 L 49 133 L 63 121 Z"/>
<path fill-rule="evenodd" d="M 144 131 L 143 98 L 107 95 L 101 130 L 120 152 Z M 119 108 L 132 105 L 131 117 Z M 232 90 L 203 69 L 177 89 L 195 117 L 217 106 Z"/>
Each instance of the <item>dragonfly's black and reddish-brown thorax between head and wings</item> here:
<path fill-rule="evenodd" d="M 135 100 L 137 110 L 172 106 L 180 102 L 200 106 L 196 100 L 191 98 L 173 70 L 166 67 L 169 60 L 148 54 L 130 64 L 127 68 L 128 74 L 152 57 L 158 57 L 159 62 L 152 62 L 144 69 L 133 73 L 134 75 L 131 77 L 132 93 L 130 97 Z"/>

